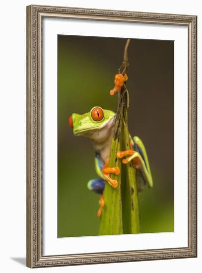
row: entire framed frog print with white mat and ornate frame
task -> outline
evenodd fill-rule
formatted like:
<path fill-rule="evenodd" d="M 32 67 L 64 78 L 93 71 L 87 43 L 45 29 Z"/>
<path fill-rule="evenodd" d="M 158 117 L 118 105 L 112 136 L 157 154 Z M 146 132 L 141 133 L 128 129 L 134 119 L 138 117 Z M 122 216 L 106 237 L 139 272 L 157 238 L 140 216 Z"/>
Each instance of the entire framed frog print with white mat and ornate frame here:
<path fill-rule="evenodd" d="M 27 266 L 197 257 L 197 16 L 27 6 Z"/>

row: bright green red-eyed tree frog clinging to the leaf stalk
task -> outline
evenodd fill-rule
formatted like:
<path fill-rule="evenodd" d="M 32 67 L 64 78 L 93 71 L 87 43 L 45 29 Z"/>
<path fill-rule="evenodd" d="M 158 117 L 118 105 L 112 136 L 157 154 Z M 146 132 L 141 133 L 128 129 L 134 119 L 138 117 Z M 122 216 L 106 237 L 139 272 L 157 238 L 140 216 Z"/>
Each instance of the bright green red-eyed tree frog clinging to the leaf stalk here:
<path fill-rule="evenodd" d="M 117 90 L 115 90 L 117 91 Z M 118 167 L 110 168 L 110 148 L 115 130 L 116 114 L 113 111 L 102 109 L 101 107 L 93 107 L 90 112 L 83 115 L 73 113 L 69 118 L 69 125 L 73 129 L 75 136 L 86 136 L 92 141 L 95 149 L 95 170 L 99 178 L 92 179 L 88 182 L 87 187 L 95 193 L 101 194 L 99 203 L 100 207 L 97 215 L 102 213 L 104 206 L 103 191 L 105 188 L 105 181 L 107 181 L 113 188 L 117 188 L 118 182 L 110 178 L 110 174 L 120 174 Z M 132 138 L 130 136 L 131 149 L 127 151 L 118 151 L 117 157 L 123 159 L 124 164 L 131 160 L 134 162 L 137 190 L 141 191 L 145 185 L 153 186 L 149 161 L 146 149 L 138 136 Z"/>

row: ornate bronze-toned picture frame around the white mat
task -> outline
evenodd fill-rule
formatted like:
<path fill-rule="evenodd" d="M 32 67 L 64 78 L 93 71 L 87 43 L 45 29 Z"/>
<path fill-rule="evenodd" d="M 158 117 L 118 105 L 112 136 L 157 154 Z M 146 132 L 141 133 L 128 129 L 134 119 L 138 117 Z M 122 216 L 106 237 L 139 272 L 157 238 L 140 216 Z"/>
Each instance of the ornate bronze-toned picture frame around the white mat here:
<path fill-rule="evenodd" d="M 188 245 L 45 256 L 43 254 L 43 19 L 185 26 L 188 31 Z M 27 6 L 27 267 L 197 257 L 197 16 L 55 6 Z"/>

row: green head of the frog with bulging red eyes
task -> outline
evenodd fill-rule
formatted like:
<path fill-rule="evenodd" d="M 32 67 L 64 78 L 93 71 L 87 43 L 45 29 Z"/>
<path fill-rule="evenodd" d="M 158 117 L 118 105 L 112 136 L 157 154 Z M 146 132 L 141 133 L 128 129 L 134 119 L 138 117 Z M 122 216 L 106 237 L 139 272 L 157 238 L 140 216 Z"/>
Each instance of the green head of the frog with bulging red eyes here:
<path fill-rule="evenodd" d="M 83 115 L 73 113 L 69 118 L 69 125 L 75 136 L 87 136 L 93 140 L 97 140 L 99 136 L 99 140 L 102 140 L 114 127 L 115 116 L 113 111 L 96 106 Z"/>

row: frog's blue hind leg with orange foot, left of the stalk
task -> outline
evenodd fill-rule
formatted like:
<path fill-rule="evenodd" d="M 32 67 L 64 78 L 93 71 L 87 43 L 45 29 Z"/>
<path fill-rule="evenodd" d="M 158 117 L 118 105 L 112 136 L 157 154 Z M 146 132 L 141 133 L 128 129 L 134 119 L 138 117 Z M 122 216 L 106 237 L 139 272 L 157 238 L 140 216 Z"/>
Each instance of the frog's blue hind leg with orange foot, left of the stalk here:
<path fill-rule="evenodd" d="M 97 212 L 97 216 L 101 216 L 102 214 L 102 208 L 104 206 L 104 198 L 103 198 L 103 192 L 104 192 L 104 188 L 105 188 L 105 181 L 102 178 L 96 178 L 96 179 L 91 179 L 88 184 L 87 187 L 90 191 L 93 191 L 97 194 L 101 194 L 101 197 L 99 199 L 99 204 L 100 207 L 98 209 Z"/>

